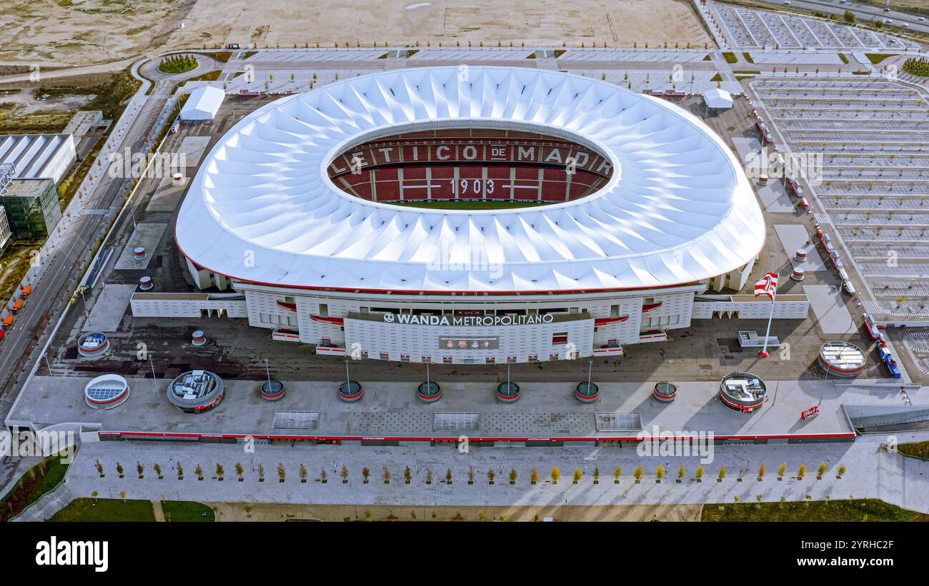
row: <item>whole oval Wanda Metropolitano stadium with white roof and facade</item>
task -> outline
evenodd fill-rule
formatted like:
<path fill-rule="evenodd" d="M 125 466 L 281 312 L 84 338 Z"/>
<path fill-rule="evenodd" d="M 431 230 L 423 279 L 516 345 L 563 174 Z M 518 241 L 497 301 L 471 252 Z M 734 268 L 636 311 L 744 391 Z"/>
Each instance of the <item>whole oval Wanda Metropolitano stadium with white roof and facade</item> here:
<path fill-rule="evenodd" d="M 557 71 L 461 66 L 350 78 L 246 115 L 190 181 L 175 240 L 196 286 L 244 295 L 274 339 L 534 363 L 620 355 L 723 311 L 707 294 L 745 285 L 765 223 L 738 159 L 682 108 Z M 726 311 L 768 316 L 743 301 Z"/>

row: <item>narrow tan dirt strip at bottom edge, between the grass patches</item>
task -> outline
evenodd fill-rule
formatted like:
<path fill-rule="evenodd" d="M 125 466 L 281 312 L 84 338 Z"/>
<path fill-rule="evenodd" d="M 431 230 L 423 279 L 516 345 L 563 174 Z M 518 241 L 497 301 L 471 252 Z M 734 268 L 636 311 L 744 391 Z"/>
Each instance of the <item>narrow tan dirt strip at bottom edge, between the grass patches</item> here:
<path fill-rule="evenodd" d="M 700 504 L 409 506 L 206 503 L 217 521 L 700 521 Z M 414 516 L 415 515 L 415 516 Z M 501 518 L 501 516 L 503 518 Z"/>

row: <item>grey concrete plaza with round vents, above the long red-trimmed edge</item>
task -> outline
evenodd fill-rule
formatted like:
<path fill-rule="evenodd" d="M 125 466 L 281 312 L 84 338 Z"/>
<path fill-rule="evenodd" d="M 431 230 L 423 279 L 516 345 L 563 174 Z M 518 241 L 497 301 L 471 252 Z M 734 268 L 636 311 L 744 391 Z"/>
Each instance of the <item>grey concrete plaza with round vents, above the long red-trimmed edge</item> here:
<path fill-rule="evenodd" d="M 180 414 L 165 397 L 168 381 L 130 380 L 132 395 L 123 405 L 100 411 L 87 407 L 84 388 L 89 376 L 36 376 L 23 391 L 7 424 L 41 428 L 62 422 L 80 424 L 85 431 L 157 432 L 174 434 L 242 434 L 288 436 L 457 438 L 456 429 L 437 427 L 436 414 L 478 414 L 478 427 L 467 433 L 481 438 L 575 438 L 590 440 L 635 438 L 638 427 L 610 431 L 597 424 L 595 414 L 640 414 L 646 430 L 709 431 L 716 437 L 798 436 L 817 438 L 853 435 L 842 405 L 848 403 L 897 407 L 904 404 L 898 384 L 873 381 L 768 380 L 768 400 L 754 414 L 727 408 L 717 399 L 718 384 L 675 382 L 677 399 L 656 401 L 654 383 L 599 383 L 600 400 L 582 404 L 573 397 L 573 384 L 525 383 L 517 404 L 496 401 L 490 383 L 447 383 L 438 379 L 443 398 L 425 404 L 415 398 L 415 383 L 360 381 L 364 398 L 339 401 L 339 381 L 283 381 L 286 396 L 263 401 L 261 381 L 227 380 L 226 396 L 216 409 L 203 414 Z M 157 390 L 156 390 L 157 389 Z M 929 388 L 909 389 L 914 405 L 929 402 Z M 819 405 L 818 417 L 803 421 L 800 412 Z M 315 413 L 314 423 L 288 426 L 284 415 Z"/>

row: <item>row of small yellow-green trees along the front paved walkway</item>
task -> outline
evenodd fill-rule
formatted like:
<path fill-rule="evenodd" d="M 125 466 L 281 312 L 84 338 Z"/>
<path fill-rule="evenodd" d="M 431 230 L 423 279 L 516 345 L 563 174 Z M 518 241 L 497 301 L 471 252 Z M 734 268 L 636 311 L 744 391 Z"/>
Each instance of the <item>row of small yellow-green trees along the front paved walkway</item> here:
<path fill-rule="evenodd" d="M 100 478 L 104 478 L 106 476 L 106 473 L 104 472 L 103 465 L 100 463 L 99 460 L 96 461 L 95 465 L 97 467 L 97 472 Z M 155 465 L 152 465 L 151 468 L 152 470 L 154 470 L 155 474 L 158 476 L 159 479 L 164 478 L 164 473 L 163 473 L 161 465 L 155 464 Z M 175 466 L 174 469 L 177 471 L 177 478 L 183 479 L 184 478 L 184 466 L 178 462 L 177 466 Z M 245 474 L 244 466 L 242 466 L 241 463 L 237 462 L 233 466 L 233 469 L 235 470 L 236 477 L 239 479 L 240 482 L 242 482 L 244 480 L 244 474 Z M 265 466 L 262 464 L 259 464 L 257 466 L 256 471 L 258 474 L 258 481 L 264 482 L 265 481 Z M 818 465 L 817 479 L 821 479 L 828 471 L 829 471 L 829 465 L 826 462 L 823 462 L 820 465 Z M 845 471 L 846 471 L 845 465 L 844 464 L 839 465 L 836 468 L 836 478 L 842 478 L 843 475 L 845 474 Z M 124 478 L 124 472 L 125 470 L 124 470 L 123 465 L 117 462 L 116 473 L 119 475 L 119 478 Z M 141 462 L 137 462 L 136 472 L 138 474 L 138 478 L 145 478 L 145 465 L 143 465 Z M 226 477 L 226 468 L 221 464 L 216 464 L 216 468 L 214 472 L 216 473 L 215 478 L 217 480 L 222 480 Z M 759 481 L 763 480 L 765 478 L 766 473 L 767 473 L 767 467 L 765 466 L 765 464 L 760 465 L 758 467 L 757 479 Z M 204 476 L 203 466 L 199 464 L 196 465 L 196 467 L 194 467 L 193 469 L 193 474 L 198 480 L 203 480 L 203 476 Z M 297 470 L 297 474 L 301 482 L 307 482 L 309 471 L 307 470 L 306 465 L 301 464 L 299 469 Z M 706 474 L 706 469 L 704 468 L 704 466 L 702 465 L 697 466 L 696 470 L 694 471 L 694 479 L 697 482 L 702 482 L 705 474 Z M 720 466 L 716 474 L 716 481 L 722 482 L 726 478 L 727 474 L 728 474 L 728 470 L 726 466 Z M 786 474 L 787 474 L 787 463 L 786 462 L 781 463 L 781 465 L 778 466 L 778 479 L 779 480 L 783 479 Z M 284 482 L 286 480 L 287 469 L 284 467 L 283 464 L 280 464 L 280 463 L 278 464 L 277 476 L 278 476 L 279 482 Z M 365 467 L 361 469 L 361 478 L 363 479 L 364 484 L 368 484 L 371 481 L 371 476 L 372 476 L 372 472 L 370 468 Z M 474 484 L 475 478 L 477 478 L 477 476 L 478 476 L 478 471 L 475 470 L 474 466 L 470 466 L 467 471 L 467 483 Z M 578 484 L 583 478 L 583 476 L 584 476 L 583 470 L 581 468 L 575 468 L 574 474 L 572 475 L 571 480 L 573 481 L 574 484 Z M 655 481 L 656 482 L 661 482 L 666 476 L 667 476 L 667 470 L 665 470 L 664 466 L 658 465 L 655 467 Z M 806 465 L 801 464 L 797 468 L 796 478 L 802 480 L 803 478 L 805 478 L 805 476 L 806 476 Z M 344 484 L 347 484 L 348 477 L 349 477 L 347 465 L 342 466 L 342 469 L 339 472 L 339 477 L 342 478 L 342 482 Z M 509 478 L 509 483 L 516 484 L 518 477 L 519 477 L 519 474 L 517 473 L 516 468 L 511 468 L 509 474 L 507 475 L 507 478 Z M 622 467 L 616 466 L 613 469 L 613 482 L 615 484 L 619 484 L 621 477 L 622 477 Z M 644 477 L 645 477 L 645 470 L 642 468 L 642 466 L 636 466 L 635 470 L 633 471 L 633 478 L 635 478 L 635 483 L 636 484 L 639 483 Z M 389 484 L 390 480 L 393 478 L 393 473 L 390 471 L 390 468 L 388 466 L 384 466 L 382 468 L 381 478 L 384 479 L 385 484 Z M 487 471 L 488 483 L 494 484 L 496 481 L 496 478 L 497 478 L 497 472 L 493 468 L 488 469 Z M 561 470 L 559 470 L 557 466 L 552 466 L 552 470 L 549 473 L 549 478 L 551 478 L 553 484 L 557 484 L 558 480 L 561 479 Z M 432 472 L 432 468 L 426 468 L 425 483 L 432 484 L 434 479 L 435 478 Z M 453 479 L 453 475 L 451 473 L 451 468 L 448 468 L 445 472 L 445 483 L 451 484 L 452 479 Z M 536 484 L 539 482 L 539 479 L 540 479 L 539 468 L 532 468 L 530 470 L 530 483 Z M 677 469 L 677 482 L 680 483 L 686 479 L 687 479 L 687 467 L 682 464 Z M 741 478 L 739 477 L 739 480 L 740 479 Z M 325 468 L 322 468 L 320 470 L 319 480 L 322 483 L 326 483 L 329 481 L 328 473 L 326 472 Z M 404 468 L 403 480 L 405 484 L 412 483 L 412 470 L 410 469 L 410 466 L 406 466 Z M 599 484 L 599 482 L 600 482 L 600 468 L 595 467 L 594 468 L 594 483 Z"/>

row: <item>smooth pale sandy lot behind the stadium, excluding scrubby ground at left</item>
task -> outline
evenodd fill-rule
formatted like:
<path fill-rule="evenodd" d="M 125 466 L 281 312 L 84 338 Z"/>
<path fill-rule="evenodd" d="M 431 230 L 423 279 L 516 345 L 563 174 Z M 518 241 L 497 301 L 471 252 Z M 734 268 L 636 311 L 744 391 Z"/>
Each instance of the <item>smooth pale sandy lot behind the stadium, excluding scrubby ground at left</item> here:
<path fill-rule="evenodd" d="M 299 5 L 294 6 L 294 4 Z M 361 45 L 413 45 L 416 41 L 472 41 L 475 45 L 560 46 L 562 42 L 588 46 L 652 46 L 665 41 L 700 44 L 710 38 L 688 2 L 682 0 L 385 0 L 349 6 L 321 0 L 313 3 L 311 18 L 295 19 L 305 6 L 293 1 L 268 3 L 247 0 L 200 0 L 190 10 L 183 31 L 172 35 L 176 44 L 211 40 L 261 46 L 322 45 L 346 42 Z M 223 17 L 222 15 L 226 15 Z M 217 19 L 217 17 L 219 17 Z M 310 17 L 310 15 L 307 15 Z M 225 34 L 225 38 L 223 35 Z"/>

